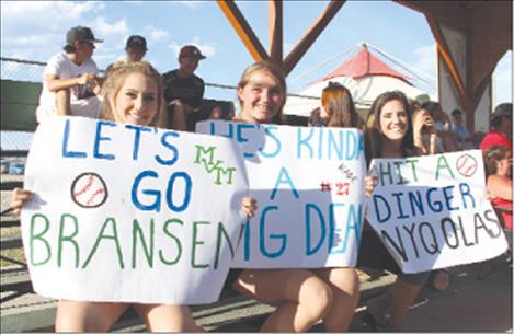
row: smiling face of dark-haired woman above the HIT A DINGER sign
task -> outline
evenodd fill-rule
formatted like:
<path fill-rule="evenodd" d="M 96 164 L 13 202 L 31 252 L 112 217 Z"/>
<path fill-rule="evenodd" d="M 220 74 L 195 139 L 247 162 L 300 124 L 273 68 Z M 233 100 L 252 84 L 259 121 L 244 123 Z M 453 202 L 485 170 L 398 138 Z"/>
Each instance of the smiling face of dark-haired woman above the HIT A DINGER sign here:
<path fill-rule="evenodd" d="M 380 131 L 389 140 L 402 140 L 409 130 L 407 111 L 398 100 L 387 102 L 380 112 Z"/>

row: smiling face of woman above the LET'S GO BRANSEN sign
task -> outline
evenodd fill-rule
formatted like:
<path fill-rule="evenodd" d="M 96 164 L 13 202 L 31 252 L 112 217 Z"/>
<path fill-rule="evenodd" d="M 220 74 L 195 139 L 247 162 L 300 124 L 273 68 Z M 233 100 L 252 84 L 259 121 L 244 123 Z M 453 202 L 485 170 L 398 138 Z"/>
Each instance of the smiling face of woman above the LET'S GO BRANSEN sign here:
<path fill-rule="evenodd" d="M 118 123 L 148 126 L 159 111 L 157 83 L 139 72 L 127 74 L 112 99 L 114 119 Z"/>

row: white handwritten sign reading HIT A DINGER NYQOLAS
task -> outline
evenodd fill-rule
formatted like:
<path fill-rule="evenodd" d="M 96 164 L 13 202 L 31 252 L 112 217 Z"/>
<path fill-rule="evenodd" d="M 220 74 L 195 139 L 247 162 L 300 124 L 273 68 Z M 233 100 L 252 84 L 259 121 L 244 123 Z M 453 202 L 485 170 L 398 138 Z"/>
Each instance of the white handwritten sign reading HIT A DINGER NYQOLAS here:
<path fill-rule="evenodd" d="M 378 185 L 367 219 L 404 273 L 486 261 L 506 251 L 486 198 L 480 150 L 377 159 L 370 173 Z"/>

